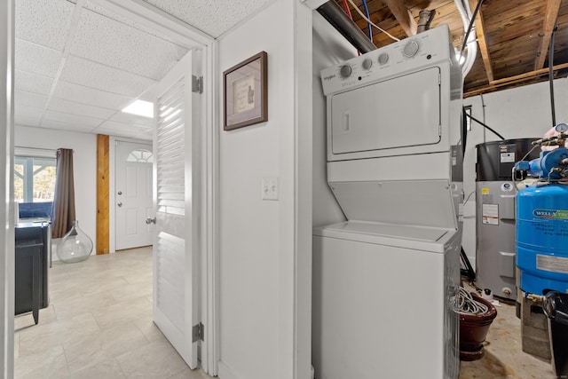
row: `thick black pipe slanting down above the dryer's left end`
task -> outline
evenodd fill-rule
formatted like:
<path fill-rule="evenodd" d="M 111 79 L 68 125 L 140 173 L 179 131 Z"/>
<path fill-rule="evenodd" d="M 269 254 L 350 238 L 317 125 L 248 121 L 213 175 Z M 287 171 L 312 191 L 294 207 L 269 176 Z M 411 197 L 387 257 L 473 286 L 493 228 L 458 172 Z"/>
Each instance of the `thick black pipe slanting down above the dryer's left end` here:
<path fill-rule="evenodd" d="M 357 24 L 343 12 L 335 1 L 329 0 L 327 3 L 321 4 L 317 11 L 361 53 L 376 50 L 375 43 L 372 43 L 365 36 Z"/>

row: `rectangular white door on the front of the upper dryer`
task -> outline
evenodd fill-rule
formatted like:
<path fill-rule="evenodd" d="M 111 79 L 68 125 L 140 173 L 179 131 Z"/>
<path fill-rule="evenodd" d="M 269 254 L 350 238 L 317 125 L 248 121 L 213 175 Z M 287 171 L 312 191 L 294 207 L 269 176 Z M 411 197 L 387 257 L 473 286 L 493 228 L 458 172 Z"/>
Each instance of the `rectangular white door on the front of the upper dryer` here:
<path fill-rule="evenodd" d="M 431 146 L 440 141 L 440 68 L 373 83 L 331 98 L 331 153 Z M 372 156 L 372 154 L 371 154 Z"/>

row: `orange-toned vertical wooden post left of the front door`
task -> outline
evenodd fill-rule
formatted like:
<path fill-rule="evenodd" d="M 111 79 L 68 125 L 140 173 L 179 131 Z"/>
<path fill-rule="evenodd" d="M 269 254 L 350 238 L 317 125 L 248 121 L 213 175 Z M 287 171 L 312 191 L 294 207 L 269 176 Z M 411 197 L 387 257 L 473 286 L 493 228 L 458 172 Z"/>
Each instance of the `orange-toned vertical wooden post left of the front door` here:
<path fill-rule="evenodd" d="M 97 254 L 110 253 L 109 137 L 97 134 Z"/>

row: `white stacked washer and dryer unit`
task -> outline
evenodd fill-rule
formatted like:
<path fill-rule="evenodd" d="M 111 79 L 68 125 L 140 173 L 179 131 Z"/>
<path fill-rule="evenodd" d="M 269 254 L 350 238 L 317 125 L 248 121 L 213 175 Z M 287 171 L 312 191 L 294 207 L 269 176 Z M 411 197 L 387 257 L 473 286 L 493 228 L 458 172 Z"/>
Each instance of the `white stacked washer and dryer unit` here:
<path fill-rule="evenodd" d="M 321 72 L 327 182 L 314 228 L 318 379 L 456 378 L 461 67 L 446 26 Z"/>

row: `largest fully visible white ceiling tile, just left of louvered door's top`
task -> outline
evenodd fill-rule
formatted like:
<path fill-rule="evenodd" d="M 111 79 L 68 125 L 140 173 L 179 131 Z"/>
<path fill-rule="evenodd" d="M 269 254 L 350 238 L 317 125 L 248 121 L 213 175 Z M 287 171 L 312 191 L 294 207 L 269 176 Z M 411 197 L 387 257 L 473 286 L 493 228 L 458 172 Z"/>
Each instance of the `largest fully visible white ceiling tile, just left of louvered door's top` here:
<path fill-rule="evenodd" d="M 160 80 L 187 49 L 97 12 L 83 10 L 69 52 L 106 66 Z"/>

